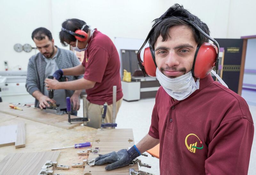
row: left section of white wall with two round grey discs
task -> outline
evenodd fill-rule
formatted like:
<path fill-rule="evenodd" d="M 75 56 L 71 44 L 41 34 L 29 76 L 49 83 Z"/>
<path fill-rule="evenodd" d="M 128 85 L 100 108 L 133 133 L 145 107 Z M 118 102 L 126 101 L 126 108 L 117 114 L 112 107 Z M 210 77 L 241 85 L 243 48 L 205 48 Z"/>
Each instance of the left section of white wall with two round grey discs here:
<path fill-rule="evenodd" d="M 27 70 L 28 59 L 35 54 L 35 50 L 18 53 L 13 46 L 28 43 L 36 47 L 31 39 L 33 30 L 41 26 L 51 30 L 50 4 L 51 0 L 44 0 L 43 3 L 35 0 L 0 0 L 0 70 L 4 70 L 4 61 L 8 61 L 10 70 L 18 70 L 18 65 L 22 70 Z"/>

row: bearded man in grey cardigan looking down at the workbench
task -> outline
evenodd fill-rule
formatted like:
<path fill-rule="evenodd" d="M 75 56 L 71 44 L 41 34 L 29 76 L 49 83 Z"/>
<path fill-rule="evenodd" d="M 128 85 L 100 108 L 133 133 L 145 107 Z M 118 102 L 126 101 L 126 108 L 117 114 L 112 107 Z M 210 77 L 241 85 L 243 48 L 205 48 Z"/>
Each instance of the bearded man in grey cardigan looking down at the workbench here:
<path fill-rule="evenodd" d="M 44 80 L 58 69 L 66 69 L 80 65 L 76 55 L 65 49 L 54 46 L 52 33 L 44 27 L 37 28 L 32 33 L 32 39 L 40 53 L 33 55 L 28 62 L 26 88 L 29 94 L 36 98 L 35 107 L 45 108 L 48 102 L 60 104 L 61 110 L 66 110 L 66 97 L 70 97 L 73 104 L 72 114 L 76 115 L 80 108 L 81 90 L 55 90 L 54 97 L 48 96 Z M 83 78 L 83 76 L 66 76 L 68 81 Z"/>

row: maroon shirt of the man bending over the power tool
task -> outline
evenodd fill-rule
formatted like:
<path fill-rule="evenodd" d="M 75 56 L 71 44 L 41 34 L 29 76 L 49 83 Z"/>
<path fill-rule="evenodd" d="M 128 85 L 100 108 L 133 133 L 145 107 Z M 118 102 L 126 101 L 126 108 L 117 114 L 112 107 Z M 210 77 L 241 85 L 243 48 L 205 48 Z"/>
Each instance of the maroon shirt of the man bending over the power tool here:
<path fill-rule="evenodd" d="M 87 99 L 94 104 L 113 103 L 113 86 L 116 87 L 116 101 L 123 97 L 120 77 L 120 60 L 114 43 L 107 35 L 95 29 L 84 53 L 84 78 L 94 81 L 87 89 Z"/>

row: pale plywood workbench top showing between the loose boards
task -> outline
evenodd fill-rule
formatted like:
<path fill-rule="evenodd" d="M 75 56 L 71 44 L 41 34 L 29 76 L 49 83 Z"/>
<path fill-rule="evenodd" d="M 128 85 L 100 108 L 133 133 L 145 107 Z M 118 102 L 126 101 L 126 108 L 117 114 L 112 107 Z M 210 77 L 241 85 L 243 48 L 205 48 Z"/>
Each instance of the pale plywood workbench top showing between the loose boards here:
<path fill-rule="evenodd" d="M 15 149 L 15 146 L 11 145 L 0 148 L 0 161 L 3 160 L 4 157 L 6 157 L 9 153 L 51 151 L 52 148 L 72 146 L 75 143 L 92 143 L 97 131 L 95 128 L 85 126 L 64 129 L 20 117 L 2 122 L 2 119 L 5 119 L 5 115 L 8 116 L 8 114 L 0 113 L 0 126 L 6 126 L 10 123 L 17 125 L 18 123 L 25 122 L 26 147 Z M 88 156 L 77 155 L 77 151 L 84 151 L 88 148 L 89 147 L 60 149 L 61 154 L 58 159 L 58 163 L 62 165 L 69 165 L 70 168 L 68 171 L 54 170 L 54 173 L 65 175 L 83 174 L 83 167 L 72 168 L 71 165 L 74 163 L 83 162 L 83 159 L 86 159 Z"/>

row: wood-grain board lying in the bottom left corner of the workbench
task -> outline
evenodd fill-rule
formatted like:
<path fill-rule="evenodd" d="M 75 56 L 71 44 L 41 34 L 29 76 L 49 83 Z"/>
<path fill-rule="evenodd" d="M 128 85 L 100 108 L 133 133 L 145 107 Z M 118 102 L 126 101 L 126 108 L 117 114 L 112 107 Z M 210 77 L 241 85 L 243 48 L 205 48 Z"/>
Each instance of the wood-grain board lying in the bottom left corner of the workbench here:
<path fill-rule="evenodd" d="M 60 151 L 8 154 L 0 162 L 0 174 L 36 175 L 47 160 L 57 161 L 59 156 Z"/>

